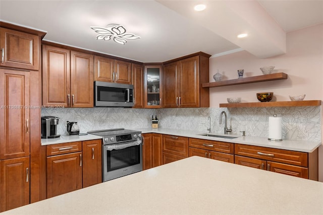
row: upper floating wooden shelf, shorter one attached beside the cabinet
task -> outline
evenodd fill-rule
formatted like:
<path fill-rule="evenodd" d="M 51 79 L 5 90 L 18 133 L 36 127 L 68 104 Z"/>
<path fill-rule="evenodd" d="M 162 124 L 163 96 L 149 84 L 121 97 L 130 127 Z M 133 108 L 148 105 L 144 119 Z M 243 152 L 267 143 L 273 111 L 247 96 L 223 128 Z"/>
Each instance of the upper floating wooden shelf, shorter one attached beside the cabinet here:
<path fill-rule="evenodd" d="M 259 76 L 238 78 L 238 79 L 232 79 L 232 80 L 226 80 L 226 81 L 203 83 L 202 87 L 222 87 L 222 86 L 248 84 L 248 83 L 255 83 L 255 82 L 262 82 L 262 81 L 281 80 L 281 79 L 287 79 L 287 74 L 281 72 L 281 73 L 273 73 L 269 75 L 259 75 Z"/>

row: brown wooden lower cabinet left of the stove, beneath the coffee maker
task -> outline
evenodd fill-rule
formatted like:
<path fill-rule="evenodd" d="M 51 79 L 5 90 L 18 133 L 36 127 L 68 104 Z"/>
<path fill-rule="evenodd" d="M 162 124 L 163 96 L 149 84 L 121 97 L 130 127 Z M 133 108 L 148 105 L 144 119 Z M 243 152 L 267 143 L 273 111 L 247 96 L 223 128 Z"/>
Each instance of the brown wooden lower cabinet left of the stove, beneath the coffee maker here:
<path fill-rule="evenodd" d="M 47 145 L 46 150 L 47 198 L 102 182 L 101 140 Z"/>

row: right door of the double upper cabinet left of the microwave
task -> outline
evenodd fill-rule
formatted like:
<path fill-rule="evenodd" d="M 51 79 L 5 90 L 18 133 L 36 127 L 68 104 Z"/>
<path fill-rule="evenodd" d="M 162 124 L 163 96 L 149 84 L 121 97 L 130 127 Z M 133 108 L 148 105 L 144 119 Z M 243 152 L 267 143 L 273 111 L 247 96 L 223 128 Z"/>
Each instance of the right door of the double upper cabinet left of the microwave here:
<path fill-rule="evenodd" d="M 71 51 L 71 106 L 93 108 L 93 55 Z"/>

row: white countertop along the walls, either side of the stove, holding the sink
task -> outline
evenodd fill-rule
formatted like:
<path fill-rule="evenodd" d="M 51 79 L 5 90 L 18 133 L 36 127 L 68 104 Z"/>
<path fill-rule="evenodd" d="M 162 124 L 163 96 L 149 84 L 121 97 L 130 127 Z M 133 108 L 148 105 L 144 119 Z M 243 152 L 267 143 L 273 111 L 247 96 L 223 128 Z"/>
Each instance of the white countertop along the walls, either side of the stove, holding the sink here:
<path fill-rule="evenodd" d="M 312 152 L 319 145 L 321 145 L 320 142 L 302 141 L 302 140 L 270 141 L 266 137 L 253 137 L 253 136 L 242 136 L 242 135 L 227 135 L 227 136 L 238 137 L 235 139 L 225 139 L 225 138 L 207 137 L 207 136 L 198 135 L 198 134 L 206 134 L 207 132 L 205 131 L 190 131 L 190 130 L 178 130 L 178 129 L 167 129 L 167 128 L 158 128 L 158 129 L 137 128 L 137 129 L 131 129 L 131 130 L 141 131 L 142 133 L 169 134 L 169 135 L 192 137 L 192 138 L 199 138 L 199 139 L 205 139 L 205 140 L 217 140 L 222 142 L 241 143 L 241 144 L 247 144 L 247 145 L 264 146 L 264 147 L 270 147 L 270 148 L 279 148 L 279 149 L 302 151 L 302 152 Z M 215 133 L 211 133 L 211 134 L 215 134 Z M 225 136 L 224 134 L 217 134 L 217 135 Z M 92 135 L 92 134 L 88 134 L 84 136 L 62 135 L 60 138 L 41 139 L 41 145 L 84 141 L 84 140 L 91 140 L 91 139 L 101 139 L 101 137 Z"/>

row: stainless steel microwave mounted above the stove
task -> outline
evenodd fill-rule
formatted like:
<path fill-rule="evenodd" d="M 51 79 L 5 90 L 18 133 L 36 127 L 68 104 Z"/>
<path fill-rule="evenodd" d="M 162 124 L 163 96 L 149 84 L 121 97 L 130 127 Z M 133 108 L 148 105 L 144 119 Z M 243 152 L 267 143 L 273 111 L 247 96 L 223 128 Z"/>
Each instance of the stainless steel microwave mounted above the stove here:
<path fill-rule="evenodd" d="M 94 81 L 94 106 L 134 106 L 133 85 Z"/>

